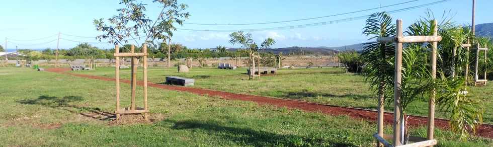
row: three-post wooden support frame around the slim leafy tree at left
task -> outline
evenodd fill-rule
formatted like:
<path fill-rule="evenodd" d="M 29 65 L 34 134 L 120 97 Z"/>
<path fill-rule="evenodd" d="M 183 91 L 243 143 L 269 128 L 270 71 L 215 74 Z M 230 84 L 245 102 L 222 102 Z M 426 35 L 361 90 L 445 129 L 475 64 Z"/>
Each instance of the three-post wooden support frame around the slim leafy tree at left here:
<path fill-rule="evenodd" d="M 118 45 L 115 45 L 115 83 L 116 83 L 116 120 L 120 119 L 120 115 L 122 114 L 144 114 L 144 119 L 146 121 L 149 120 L 149 108 L 147 105 L 147 44 L 142 46 L 142 52 L 135 52 L 135 45 L 130 47 L 130 53 L 120 53 L 120 48 Z M 120 58 L 121 57 L 132 57 L 131 59 L 131 106 L 130 109 L 120 109 Z M 144 108 L 137 108 L 135 106 L 135 90 L 137 86 L 137 57 L 142 57 L 143 60 L 143 82 L 144 82 Z"/>

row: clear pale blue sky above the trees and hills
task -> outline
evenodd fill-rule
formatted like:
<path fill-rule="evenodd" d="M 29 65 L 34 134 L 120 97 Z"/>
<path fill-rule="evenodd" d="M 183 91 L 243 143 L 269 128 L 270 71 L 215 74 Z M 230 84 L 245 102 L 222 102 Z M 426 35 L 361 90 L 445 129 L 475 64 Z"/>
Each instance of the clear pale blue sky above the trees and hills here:
<path fill-rule="evenodd" d="M 188 23 L 208 23 L 208 24 L 241 24 L 241 23 L 259 23 L 295 20 L 311 17 L 320 17 L 334 15 L 346 12 L 352 12 L 363 9 L 378 8 L 411 0 L 374 0 L 374 1 L 199 1 L 183 0 L 189 6 L 187 9 L 191 17 L 186 20 Z M 368 15 L 378 11 L 391 11 L 407 7 L 418 6 L 432 3 L 439 0 L 421 0 L 404 5 L 398 5 L 381 10 L 365 11 L 360 13 L 326 17 L 314 20 L 296 21 L 289 23 L 246 25 L 246 26 L 202 26 L 184 24 L 177 28 L 199 29 L 199 30 L 237 30 L 237 29 L 255 29 L 255 28 L 272 28 L 283 26 L 294 26 L 310 24 L 317 22 L 326 22 L 340 20 L 358 16 Z M 150 4 L 148 14 L 157 14 L 159 11 L 157 5 L 151 4 L 151 1 L 142 1 Z M 109 18 L 116 14 L 116 9 L 122 6 L 119 1 L 100 1 L 100 0 L 17 0 L 3 1 L 0 5 L 0 41 L 5 46 L 5 38 L 8 38 L 9 49 L 15 48 L 56 48 L 56 35 L 58 32 L 76 36 L 97 36 L 101 32 L 96 31 L 93 25 L 93 19 Z M 493 1 L 477 0 L 476 1 L 476 24 L 491 23 L 491 6 Z M 471 23 L 470 0 L 451 0 L 437 5 L 427 6 L 418 9 L 412 9 L 404 12 L 393 13 L 392 16 L 403 20 L 404 26 L 425 15 L 427 9 L 434 12 L 437 18 L 440 18 L 444 11 L 450 11 L 453 20 L 458 24 Z M 366 37 L 361 35 L 365 19 L 345 21 L 335 24 L 320 25 L 306 28 L 295 28 L 287 30 L 263 30 L 250 32 L 254 39 L 261 40 L 272 37 L 277 41 L 273 47 L 290 47 L 290 46 L 344 46 L 366 41 Z M 231 32 L 203 32 L 203 31 L 186 31 L 178 30 L 173 36 L 173 42 L 184 44 L 190 48 L 213 48 L 217 45 L 227 47 L 238 47 L 228 43 L 228 34 Z M 51 37 L 48 37 L 51 36 Z M 38 38 L 44 38 L 35 41 Z M 63 35 L 64 39 L 98 42 L 93 38 L 79 38 Z M 76 42 L 60 40 L 60 48 L 71 48 Z M 93 44 L 101 48 L 112 48 L 112 45 L 106 43 Z"/>

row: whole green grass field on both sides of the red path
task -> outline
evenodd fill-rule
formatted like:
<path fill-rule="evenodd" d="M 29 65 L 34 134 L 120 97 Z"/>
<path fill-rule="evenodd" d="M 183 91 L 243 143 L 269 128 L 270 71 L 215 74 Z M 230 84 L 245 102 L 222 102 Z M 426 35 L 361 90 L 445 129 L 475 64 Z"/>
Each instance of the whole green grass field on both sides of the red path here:
<path fill-rule="evenodd" d="M 111 77 L 113 68 L 84 73 Z M 339 69 L 281 70 L 280 75 L 249 81 L 243 69 L 193 68 L 190 73 L 150 69 L 149 79 L 193 77 L 196 86 L 221 91 L 287 97 L 340 105 L 373 106 L 362 78 Z M 295 72 L 298 72 L 294 74 Z M 122 73 L 128 75 L 129 71 Z M 0 145 L 2 146 L 370 146 L 376 126 L 347 116 L 328 116 L 252 102 L 149 88 L 151 124 L 109 125 L 109 120 L 80 115 L 114 110 L 114 82 L 0 68 Z M 280 76 L 285 80 L 281 80 Z M 127 78 L 127 77 L 124 77 Z M 332 79 L 334 82 L 330 82 Z M 308 82 L 299 82 L 309 80 Z M 310 85 L 307 85 L 314 82 Z M 263 84 L 259 84 L 263 83 Z M 337 86 L 342 83 L 352 85 Z M 491 87 L 487 87 L 491 88 Z M 122 105 L 129 105 L 130 87 L 122 84 Z M 141 87 L 138 87 L 140 90 Z M 251 89 L 252 91 L 249 91 Z M 140 91 L 138 91 L 140 92 Z M 293 92 L 289 96 L 289 92 Z M 297 96 L 295 93 L 306 93 Z M 491 91 L 485 91 L 491 92 Z M 141 93 L 137 93 L 138 95 Z M 328 95 L 332 94 L 332 95 Z M 338 97 L 341 96 L 341 97 Z M 137 99 L 138 103 L 142 101 Z M 361 102 L 360 102 L 361 101 Z M 358 103 L 356 103 L 358 102 Z M 335 104 L 335 103 L 334 103 Z M 390 132 L 390 126 L 386 127 Z M 424 127 L 413 128 L 426 135 Z M 493 140 L 458 136 L 437 129 L 440 146 L 491 146 Z"/>

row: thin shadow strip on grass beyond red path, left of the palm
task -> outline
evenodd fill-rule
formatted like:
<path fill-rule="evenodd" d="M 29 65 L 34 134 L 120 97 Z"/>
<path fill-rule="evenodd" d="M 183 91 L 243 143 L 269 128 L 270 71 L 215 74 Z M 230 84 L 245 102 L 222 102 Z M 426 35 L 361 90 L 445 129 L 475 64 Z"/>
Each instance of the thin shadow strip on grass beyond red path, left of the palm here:
<path fill-rule="evenodd" d="M 306 92 L 306 91 L 288 92 L 288 93 L 285 93 L 281 96 L 285 97 L 285 98 L 290 98 L 290 99 L 329 97 L 329 98 L 353 98 L 356 100 L 364 100 L 364 99 L 371 99 L 372 98 L 370 95 L 361 95 L 361 94 L 334 95 L 334 94 L 315 93 L 315 92 Z"/>

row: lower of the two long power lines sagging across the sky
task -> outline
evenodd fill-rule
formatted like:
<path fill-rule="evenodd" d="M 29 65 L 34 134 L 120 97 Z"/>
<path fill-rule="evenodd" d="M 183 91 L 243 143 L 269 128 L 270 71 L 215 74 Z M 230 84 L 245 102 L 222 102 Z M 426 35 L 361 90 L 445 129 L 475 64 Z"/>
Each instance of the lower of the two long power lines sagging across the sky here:
<path fill-rule="evenodd" d="M 444 2 L 447 2 L 447 1 L 451 1 L 451 0 L 442 0 L 442 1 L 437 1 L 437 2 L 433 2 L 433 3 L 418 5 L 418 6 L 414 6 L 414 7 L 408 7 L 408 8 L 403 8 L 403 9 L 392 10 L 392 11 L 388 11 L 387 13 L 397 13 L 397 12 L 412 10 L 412 9 L 421 8 L 421 7 L 425 7 L 425 6 L 435 5 L 435 4 L 439 4 L 439 3 L 444 3 Z M 334 23 L 340 23 L 340 22 L 347 22 L 347 21 L 364 19 L 364 18 L 367 18 L 369 16 L 370 15 L 364 15 L 364 16 L 352 17 L 352 18 L 346 18 L 346 19 L 340 19 L 340 20 L 334 20 L 334 21 L 326 21 L 326 22 L 318 22 L 318 23 L 302 24 L 302 25 L 294 25 L 294 26 L 272 27 L 272 28 L 234 29 L 234 30 L 200 30 L 200 29 L 184 29 L 184 28 L 177 28 L 177 29 L 178 30 L 186 30 L 186 31 L 203 31 L 203 32 L 235 32 L 235 31 L 250 31 L 250 32 L 254 32 L 254 31 L 265 31 L 265 30 L 285 30 L 285 29 L 314 27 L 314 26 L 321 26 L 321 25 L 334 24 Z"/>

